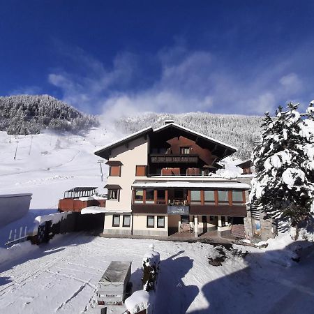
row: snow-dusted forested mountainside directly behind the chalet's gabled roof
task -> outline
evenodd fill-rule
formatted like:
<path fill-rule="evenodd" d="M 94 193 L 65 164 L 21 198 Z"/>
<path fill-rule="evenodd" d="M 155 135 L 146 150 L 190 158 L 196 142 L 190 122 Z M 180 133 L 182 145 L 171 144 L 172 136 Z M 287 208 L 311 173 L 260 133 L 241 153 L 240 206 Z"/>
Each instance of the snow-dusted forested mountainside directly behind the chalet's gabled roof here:
<path fill-rule="evenodd" d="M 121 118 L 116 121 L 116 127 L 130 134 L 153 126 L 163 126 L 165 119 L 190 128 L 199 133 L 214 137 L 234 147 L 234 154 L 241 159 L 250 158 L 255 142 L 260 139 L 262 117 L 243 116 L 239 114 L 211 114 L 207 112 L 189 112 L 185 114 L 157 114 L 148 112 L 135 117 Z"/>

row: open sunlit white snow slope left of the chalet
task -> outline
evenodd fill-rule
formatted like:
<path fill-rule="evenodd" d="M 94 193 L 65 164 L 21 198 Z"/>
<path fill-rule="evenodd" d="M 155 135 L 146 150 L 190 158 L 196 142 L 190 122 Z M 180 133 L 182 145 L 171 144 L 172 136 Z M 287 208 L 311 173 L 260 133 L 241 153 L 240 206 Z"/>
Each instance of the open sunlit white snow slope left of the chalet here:
<path fill-rule="evenodd" d="M 117 137 L 105 128 L 91 128 L 80 135 L 0 132 L 0 194 L 33 193 L 31 209 L 44 209 L 57 208 L 63 191 L 75 186 L 97 186 L 104 192 L 99 158 L 93 151 Z M 107 166 L 103 170 L 105 177 Z"/>

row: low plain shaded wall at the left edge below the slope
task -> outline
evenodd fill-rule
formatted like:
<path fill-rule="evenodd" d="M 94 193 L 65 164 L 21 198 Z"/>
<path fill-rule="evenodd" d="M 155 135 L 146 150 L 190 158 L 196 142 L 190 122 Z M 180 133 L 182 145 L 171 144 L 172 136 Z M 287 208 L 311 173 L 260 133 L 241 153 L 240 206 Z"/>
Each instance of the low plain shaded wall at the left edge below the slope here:
<path fill-rule="evenodd" d="M 30 193 L 0 195 L 0 227 L 27 214 L 31 195 Z"/>

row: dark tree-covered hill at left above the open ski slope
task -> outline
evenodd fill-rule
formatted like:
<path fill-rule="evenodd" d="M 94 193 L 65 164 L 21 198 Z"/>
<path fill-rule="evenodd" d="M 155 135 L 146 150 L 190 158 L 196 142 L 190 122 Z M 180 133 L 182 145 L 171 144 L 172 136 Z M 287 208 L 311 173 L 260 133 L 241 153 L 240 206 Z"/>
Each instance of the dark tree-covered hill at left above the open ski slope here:
<path fill-rule="evenodd" d="M 36 134 L 40 130 L 76 133 L 98 126 L 96 117 L 49 95 L 0 97 L 0 130 L 8 134 Z"/>

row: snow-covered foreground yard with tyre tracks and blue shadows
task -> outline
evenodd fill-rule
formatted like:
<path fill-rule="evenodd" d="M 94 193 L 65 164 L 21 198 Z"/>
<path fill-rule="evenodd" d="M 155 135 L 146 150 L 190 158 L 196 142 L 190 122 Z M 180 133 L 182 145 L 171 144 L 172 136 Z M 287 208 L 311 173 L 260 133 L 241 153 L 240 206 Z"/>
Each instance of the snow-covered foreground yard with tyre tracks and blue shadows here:
<path fill-rule="evenodd" d="M 0 266 L 1 313 L 84 313 L 112 260 L 132 261 L 140 288 L 142 257 L 151 240 L 73 233 Z M 156 313 L 313 313 L 314 251 L 287 266 L 290 253 L 235 246 L 244 258 L 210 244 L 153 241 L 160 252 Z M 276 246 L 274 247 L 276 248 Z"/>

